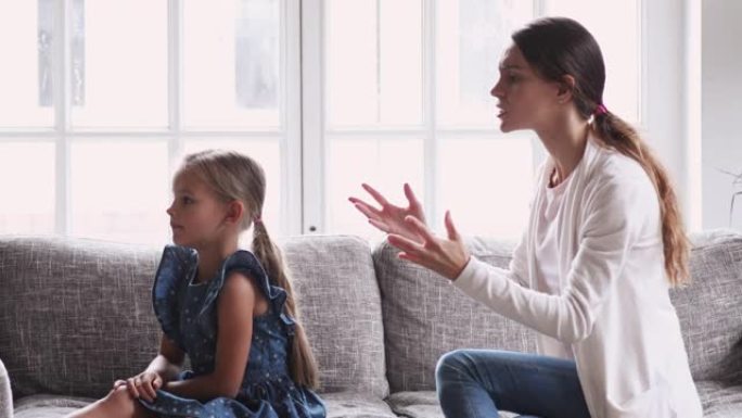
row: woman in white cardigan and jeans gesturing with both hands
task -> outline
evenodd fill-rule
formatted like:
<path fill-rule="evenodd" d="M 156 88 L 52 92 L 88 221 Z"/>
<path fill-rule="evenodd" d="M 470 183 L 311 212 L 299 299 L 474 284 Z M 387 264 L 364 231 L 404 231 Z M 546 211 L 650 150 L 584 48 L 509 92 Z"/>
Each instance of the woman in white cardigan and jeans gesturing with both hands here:
<path fill-rule="evenodd" d="M 457 418 L 700 418 L 668 295 L 687 277 L 688 241 L 667 175 L 603 104 L 603 59 L 581 25 L 543 18 L 512 39 L 491 90 L 500 127 L 534 130 L 549 159 L 509 269 L 470 256 L 449 213 L 448 239 L 435 237 L 409 186 L 408 207 L 369 186 L 381 208 L 350 199 L 400 258 L 540 332 L 539 355 L 443 356 L 442 408 Z"/>

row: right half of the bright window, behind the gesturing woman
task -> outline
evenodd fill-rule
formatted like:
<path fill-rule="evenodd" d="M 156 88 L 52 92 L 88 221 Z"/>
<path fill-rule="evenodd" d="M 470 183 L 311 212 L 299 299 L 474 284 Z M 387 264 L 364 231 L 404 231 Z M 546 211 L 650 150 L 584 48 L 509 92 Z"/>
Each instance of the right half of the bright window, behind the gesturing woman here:
<path fill-rule="evenodd" d="M 489 91 L 514 29 L 565 15 L 593 31 L 609 56 L 605 102 L 640 122 L 638 1 L 325 0 L 320 66 L 323 206 L 331 232 L 380 238 L 344 199 L 373 183 L 404 202 L 409 182 L 443 231 L 451 210 L 464 233 L 515 238 L 525 227 L 534 170 L 533 134 L 502 135 Z M 311 35 L 311 34 L 310 34 Z M 322 109 L 322 107 L 321 107 Z M 311 218 L 311 216 L 308 216 Z"/>

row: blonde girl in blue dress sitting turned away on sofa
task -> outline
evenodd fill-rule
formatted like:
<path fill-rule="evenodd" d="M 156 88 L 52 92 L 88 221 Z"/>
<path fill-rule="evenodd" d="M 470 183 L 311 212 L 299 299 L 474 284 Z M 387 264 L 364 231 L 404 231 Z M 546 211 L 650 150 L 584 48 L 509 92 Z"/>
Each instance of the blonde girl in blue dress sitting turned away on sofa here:
<path fill-rule="evenodd" d="M 234 152 L 186 157 L 152 291 L 164 335 L 141 373 L 71 417 L 324 417 L 286 268 L 260 217 L 263 168 Z M 253 251 L 238 250 L 253 228 Z M 184 356 L 192 371 L 180 373 Z"/>

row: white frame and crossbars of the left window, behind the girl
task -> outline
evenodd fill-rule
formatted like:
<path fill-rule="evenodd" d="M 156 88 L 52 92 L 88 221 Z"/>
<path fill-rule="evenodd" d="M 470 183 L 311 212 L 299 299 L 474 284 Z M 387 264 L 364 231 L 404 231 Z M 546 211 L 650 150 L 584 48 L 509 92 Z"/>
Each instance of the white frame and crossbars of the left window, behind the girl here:
<path fill-rule="evenodd" d="M 71 199 L 71 144 L 85 140 L 162 140 L 167 142 L 168 173 L 171 175 L 178 164 L 183 143 L 190 138 L 245 139 L 250 137 L 276 138 L 281 154 L 282 185 L 271 185 L 281 190 L 281 231 L 276 235 L 298 233 L 302 229 L 302 102 L 300 102 L 300 4 L 293 0 L 281 0 L 282 85 L 280 102 L 281 126 L 278 131 L 258 130 L 184 130 L 182 128 L 182 23 L 186 0 L 167 0 L 168 8 L 168 124 L 165 129 L 75 129 L 72 124 L 71 91 L 71 25 L 73 1 L 54 2 L 55 36 L 52 49 L 54 59 L 53 94 L 54 124 L 51 129 L 9 129 L 0 131 L 0 141 L 33 140 L 53 142 L 55 145 L 55 211 L 54 232 L 61 236 L 72 233 Z M 165 163 L 165 162 L 164 162 Z M 167 181 L 164 181 L 167 183 Z M 168 187 L 169 192 L 169 187 Z M 164 211 L 165 208 L 163 208 Z"/>

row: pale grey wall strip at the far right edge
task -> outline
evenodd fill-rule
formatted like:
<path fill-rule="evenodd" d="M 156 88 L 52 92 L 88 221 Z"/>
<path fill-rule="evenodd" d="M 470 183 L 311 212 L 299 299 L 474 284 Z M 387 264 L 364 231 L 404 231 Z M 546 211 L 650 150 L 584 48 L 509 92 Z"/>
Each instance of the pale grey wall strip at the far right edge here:
<path fill-rule="evenodd" d="M 731 177 L 742 172 L 742 1 L 703 0 L 703 227 L 729 226 Z M 742 187 L 738 189 L 742 191 Z M 742 229 L 742 195 L 733 227 Z"/>

